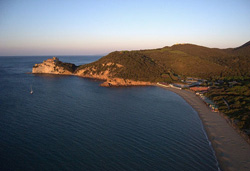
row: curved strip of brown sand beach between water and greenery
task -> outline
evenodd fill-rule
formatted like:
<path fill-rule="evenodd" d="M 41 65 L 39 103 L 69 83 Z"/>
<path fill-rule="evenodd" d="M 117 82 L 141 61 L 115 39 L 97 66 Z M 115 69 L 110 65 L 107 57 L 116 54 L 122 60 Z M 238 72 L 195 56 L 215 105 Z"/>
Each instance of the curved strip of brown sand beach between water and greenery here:
<path fill-rule="evenodd" d="M 174 88 L 165 89 L 181 96 L 198 112 L 221 170 L 250 170 L 250 145 L 227 123 L 225 118 L 219 113 L 212 112 L 192 92 Z"/>

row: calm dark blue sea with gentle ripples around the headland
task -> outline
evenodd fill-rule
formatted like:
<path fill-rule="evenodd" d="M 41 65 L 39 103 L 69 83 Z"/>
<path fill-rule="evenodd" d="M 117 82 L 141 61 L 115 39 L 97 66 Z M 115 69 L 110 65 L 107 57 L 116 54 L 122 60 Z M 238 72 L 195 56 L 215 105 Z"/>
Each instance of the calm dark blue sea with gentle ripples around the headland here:
<path fill-rule="evenodd" d="M 26 74 L 47 58 L 0 57 L 0 170 L 218 170 L 197 113 L 178 95 Z"/>

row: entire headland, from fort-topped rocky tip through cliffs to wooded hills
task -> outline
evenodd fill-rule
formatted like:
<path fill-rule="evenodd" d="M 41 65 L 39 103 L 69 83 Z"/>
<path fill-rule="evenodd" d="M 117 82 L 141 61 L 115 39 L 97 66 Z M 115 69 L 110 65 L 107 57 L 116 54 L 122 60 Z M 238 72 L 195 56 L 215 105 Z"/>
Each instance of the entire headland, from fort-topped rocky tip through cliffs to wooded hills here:
<path fill-rule="evenodd" d="M 228 49 L 176 44 L 159 49 L 115 51 L 99 60 L 75 66 L 58 58 L 35 64 L 32 73 L 77 75 L 101 79 L 102 86 L 151 85 L 177 82 L 186 77 L 208 80 L 250 75 L 250 43 Z"/>

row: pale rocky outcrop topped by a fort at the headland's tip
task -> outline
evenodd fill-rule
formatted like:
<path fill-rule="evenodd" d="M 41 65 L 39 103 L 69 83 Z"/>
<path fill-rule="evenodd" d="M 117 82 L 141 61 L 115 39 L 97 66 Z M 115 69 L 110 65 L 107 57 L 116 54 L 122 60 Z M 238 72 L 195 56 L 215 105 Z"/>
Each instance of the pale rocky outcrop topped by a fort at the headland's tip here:
<path fill-rule="evenodd" d="M 53 57 L 43 61 L 43 63 L 35 64 L 32 68 L 32 73 L 46 73 L 46 74 L 73 74 L 76 66 L 74 64 L 63 63 L 58 58 Z"/>

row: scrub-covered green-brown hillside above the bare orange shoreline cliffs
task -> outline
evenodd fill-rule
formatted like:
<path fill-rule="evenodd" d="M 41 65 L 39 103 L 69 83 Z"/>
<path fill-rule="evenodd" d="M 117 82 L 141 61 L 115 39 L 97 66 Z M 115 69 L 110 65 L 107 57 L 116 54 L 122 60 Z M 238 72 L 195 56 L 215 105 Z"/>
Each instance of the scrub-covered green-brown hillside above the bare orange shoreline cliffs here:
<path fill-rule="evenodd" d="M 113 65 L 104 65 L 107 63 Z M 205 79 L 249 77 L 249 66 L 250 42 L 234 49 L 177 44 L 159 49 L 116 51 L 77 70 L 90 67 L 95 68 L 97 74 L 109 70 L 113 77 L 171 82 L 176 81 L 177 76 Z"/>

